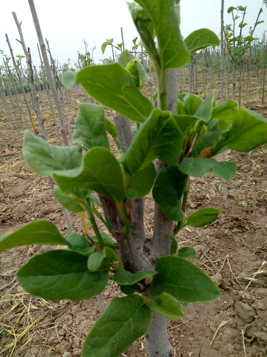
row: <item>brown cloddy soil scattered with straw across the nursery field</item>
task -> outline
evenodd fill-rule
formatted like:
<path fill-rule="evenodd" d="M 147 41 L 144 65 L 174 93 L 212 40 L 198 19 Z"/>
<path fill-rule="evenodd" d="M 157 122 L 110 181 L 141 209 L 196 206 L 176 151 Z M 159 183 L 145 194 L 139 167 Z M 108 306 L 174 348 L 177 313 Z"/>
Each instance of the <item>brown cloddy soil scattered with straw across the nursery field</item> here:
<path fill-rule="evenodd" d="M 188 91 L 185 77 L 186 72 L 180 91 Z M 198 81 L 197 91 L 203 96 L 203 83 L 200 78 Z M 214 83 L 219 99 L 218 78 L 214 78 Z M 206 91 L 209 92 L 209 88 Z M 260 91 L 261 84 L 255 75 L 251 97 L 248 98 L 246 88 L 242 91 L 242 105 L 266 117 L 267 104 L 265 101 L 262 105 L 259 100 Z M 84 101 L 83 91 L 80 89 L 77 93 L 73 89 L 72 106 L 67 107 L 72 129 L 78 99 Z M 40 104 L 43 115 L 47 116 L 45 126 L 49 142 L 57 145 L 48 104 L 42 98 Z M 109 109 L 106 109 L 106 115 L 111 116 Z M 48 179 L 38 177 L 28 168 L 16 134 L 7 125 L 1 107 L 0 145 L 0 234 L 41 218 L 53 221 L 66 234 L 64 217 Z M 112 151 L 116 149 L 112 141 L 111 147 Z M 237 162 L 234 180 L 227 181 L 228 207 L 212 225 L 184 228 L 177 235 L 179 247 L 195 248 L 197 259 L 194 263 L 214 278 L 221 297 L 219 301 L 190 304 L 184 308 L 187 318 L 169 321 L 169 340 L 176 356 L 234 357 L 244 356 L 244 350 L 247 357 L 267 354 L 267 277 L 262 273 L 267 270 L 267 146 L 246 154 L 229 150 L 226 160 Z M 222 183 L 218 177 L 208 174 L 203 178 L 191 178 L 187 213 L 201 207 L 221 205 Z M 150 236 L 153 209 L 150 193 L 145 198 L 145 225 Z M 75 213 L 70 216 L 74 231 L 82 232 L 80 216 Z M 89 223 L 88 227 L 90 230 Z M 0 288 L 11 282 L 16 271 L 33 255 L 51 249 L 54 247 L 28 246 L 2 252 Z M 12 284 L 0 291 L 0 356 L 81 355 L 83 341 L 99 317 L 96 298 L 79 303 L 51 302 L 33 297 L 19 286 L 9 291 L 10 287 Z M 107 306 L 114 296 L 122 294 L 114 282 L 109 282 L 103 292 L 104 305 Z M 133 343 L 122 356 L 147 356 L 145 339 Z"/>

